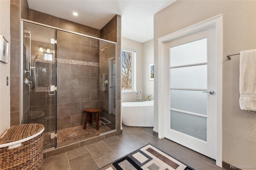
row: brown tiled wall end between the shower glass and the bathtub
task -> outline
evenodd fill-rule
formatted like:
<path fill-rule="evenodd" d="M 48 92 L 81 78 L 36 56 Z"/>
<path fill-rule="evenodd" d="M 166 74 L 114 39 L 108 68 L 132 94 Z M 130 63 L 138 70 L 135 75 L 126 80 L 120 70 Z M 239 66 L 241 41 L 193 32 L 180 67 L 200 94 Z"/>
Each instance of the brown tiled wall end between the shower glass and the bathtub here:
<path fill-rule="evenodd" d="M 116 15 L 100 30 L 100 38 L 116 42 L 116 130 L 121 133 L 121 16 Z"/>

